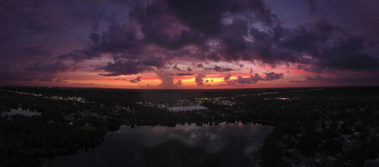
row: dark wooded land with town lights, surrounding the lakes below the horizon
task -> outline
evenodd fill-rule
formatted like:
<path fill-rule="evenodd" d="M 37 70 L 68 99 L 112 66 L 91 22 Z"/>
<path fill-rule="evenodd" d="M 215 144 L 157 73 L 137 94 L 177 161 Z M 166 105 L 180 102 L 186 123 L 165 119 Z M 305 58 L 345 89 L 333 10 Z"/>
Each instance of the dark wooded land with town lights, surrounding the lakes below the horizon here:
<path fill-rule="evenodd" d="M 211 90 L 1 86 L 0 101 L 2 166 L 40 166 L 40 158 L 95 148 L 106 132 L 121 125 L 276 126 L 262 145 L 262 166 L 267 167 L 362 166 L 379 154 L 377 86 Z M 8 116 L 14 109 L 40 114 Z"/>

